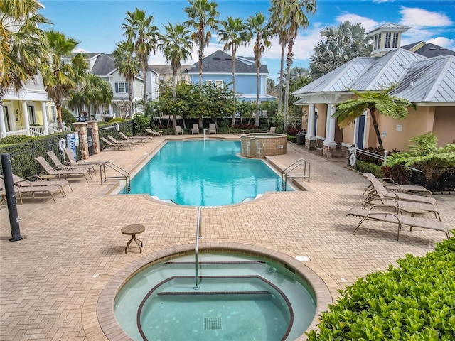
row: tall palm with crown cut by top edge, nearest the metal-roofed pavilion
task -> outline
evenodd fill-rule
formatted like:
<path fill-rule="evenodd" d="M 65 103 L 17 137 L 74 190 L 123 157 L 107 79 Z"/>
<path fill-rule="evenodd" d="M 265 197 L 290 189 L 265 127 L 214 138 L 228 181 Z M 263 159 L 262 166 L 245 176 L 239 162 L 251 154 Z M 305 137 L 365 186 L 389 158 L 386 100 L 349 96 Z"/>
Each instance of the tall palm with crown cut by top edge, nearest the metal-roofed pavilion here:
<path fill-rule="evenodd" d="M 284 1 L 284 0 L 283 0 Z M 284 4 L 284 21 L 287 21 L 288 36 L 287 36 L 287 72 L 286 72 L 286 87 L 284 91 L 284 132 L 287 131 L 287 116 L 289 109 L 289 81 L 291 80 L 290 72 L 292 65 L 292 48 L 294 40 L 297 37 L 299 28 L 307 28 L 309 26 L 308 18 L 305 13 L 316 12 L 316 0 L 290 0 Z"/>

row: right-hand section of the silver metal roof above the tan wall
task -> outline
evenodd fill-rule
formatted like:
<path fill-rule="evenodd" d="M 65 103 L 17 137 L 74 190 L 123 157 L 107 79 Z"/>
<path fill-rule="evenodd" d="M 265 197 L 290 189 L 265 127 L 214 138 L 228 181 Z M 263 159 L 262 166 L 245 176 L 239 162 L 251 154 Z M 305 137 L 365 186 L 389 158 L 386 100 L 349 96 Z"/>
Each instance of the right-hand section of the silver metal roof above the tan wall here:
<path fill-rule="evenodd" d="M 455 103 L 455 56 L 419 60 L 408 68 L 395 97 L 414 103 Z"/>

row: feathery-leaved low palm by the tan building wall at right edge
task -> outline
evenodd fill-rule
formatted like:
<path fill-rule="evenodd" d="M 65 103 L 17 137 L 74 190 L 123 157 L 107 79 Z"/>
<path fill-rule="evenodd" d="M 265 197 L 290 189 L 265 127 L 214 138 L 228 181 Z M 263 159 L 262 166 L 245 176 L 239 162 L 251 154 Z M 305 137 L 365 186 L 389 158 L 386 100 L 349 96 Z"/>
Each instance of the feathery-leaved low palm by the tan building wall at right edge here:
<path fill-rule="evenodd" d="M 421 168 L 427 183 L 436 185 L 441 175 L 452 173 L 455 167 L 455 144 L 438 147 L 437 137 L 432 133 L 410 139 L 414 145 L 409 151 L 393 153 L 387 156 L 387 166 L 403 164 Z"/>

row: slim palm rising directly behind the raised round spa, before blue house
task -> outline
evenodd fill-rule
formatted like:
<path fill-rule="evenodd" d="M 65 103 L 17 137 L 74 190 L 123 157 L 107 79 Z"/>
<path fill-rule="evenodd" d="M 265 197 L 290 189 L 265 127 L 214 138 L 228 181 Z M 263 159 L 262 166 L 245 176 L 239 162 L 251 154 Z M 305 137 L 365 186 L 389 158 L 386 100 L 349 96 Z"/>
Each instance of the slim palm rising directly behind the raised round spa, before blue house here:
<path fill-rule="evenodd" d="M 259 69 L 261 67 L 262 53 L 270 46 L 270 33 L 266 26 L 265 16 L 259 12 L 255 16 L 247 18 L 249 38 L 255 40 L 253 52 L 255 53 L 256 65 L 256 126 L 259 126 Z"/>

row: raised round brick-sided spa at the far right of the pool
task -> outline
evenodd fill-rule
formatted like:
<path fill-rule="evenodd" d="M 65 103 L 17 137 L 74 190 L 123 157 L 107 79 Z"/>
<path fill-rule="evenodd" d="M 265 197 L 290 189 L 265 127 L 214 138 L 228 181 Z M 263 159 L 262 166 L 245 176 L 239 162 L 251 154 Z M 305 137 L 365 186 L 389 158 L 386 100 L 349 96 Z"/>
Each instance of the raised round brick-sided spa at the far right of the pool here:
<path fill-rule="evenodd" d="M 240 136 L 242 141 L 241 156 L 245 158 L 265 158 L 266 155 L 286 153 L 286 135 L 270 133 L 252 133 Z"/>

